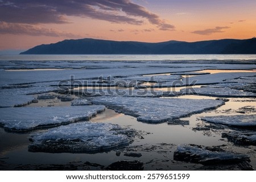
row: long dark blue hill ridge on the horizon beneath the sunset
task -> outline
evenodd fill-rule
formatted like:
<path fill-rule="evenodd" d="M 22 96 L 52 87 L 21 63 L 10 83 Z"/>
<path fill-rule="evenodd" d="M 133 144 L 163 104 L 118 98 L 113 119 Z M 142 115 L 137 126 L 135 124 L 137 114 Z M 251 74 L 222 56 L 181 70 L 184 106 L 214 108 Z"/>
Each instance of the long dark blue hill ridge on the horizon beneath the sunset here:
<path fill-rule="evenodd" d="M 77 39 L 42 44 L 20 54 L 256 54 L 256 38 L 160 43 Z"/>

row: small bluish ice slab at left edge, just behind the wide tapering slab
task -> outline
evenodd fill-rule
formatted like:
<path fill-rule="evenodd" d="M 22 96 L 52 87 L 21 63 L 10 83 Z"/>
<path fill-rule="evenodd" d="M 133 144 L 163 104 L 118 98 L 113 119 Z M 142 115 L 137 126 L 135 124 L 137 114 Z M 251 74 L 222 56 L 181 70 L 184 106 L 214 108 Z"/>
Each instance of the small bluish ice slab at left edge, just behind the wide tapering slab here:
<path fill-rule="evenodd" d="M 0 107 L 16 107 L 27 105 L 34 100 L 34 96 L 24 96 L 19 92 L 10 92 L 13 89 L 0 89 Z"/>

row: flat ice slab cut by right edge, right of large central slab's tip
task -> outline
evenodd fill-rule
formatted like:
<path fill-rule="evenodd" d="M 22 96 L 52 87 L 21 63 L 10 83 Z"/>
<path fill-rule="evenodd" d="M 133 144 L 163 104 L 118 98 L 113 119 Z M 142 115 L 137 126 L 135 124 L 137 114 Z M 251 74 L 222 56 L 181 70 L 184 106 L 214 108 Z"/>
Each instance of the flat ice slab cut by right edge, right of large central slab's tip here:
<path fill-rule="evenodd" d="M 256 128 L 256 114 L 252 115 L 218 115 L 213 117 L 203 117 L 204 121 L 210 123 L 219 123 L 233 127 L 247 127 L 248 129 Z"/>

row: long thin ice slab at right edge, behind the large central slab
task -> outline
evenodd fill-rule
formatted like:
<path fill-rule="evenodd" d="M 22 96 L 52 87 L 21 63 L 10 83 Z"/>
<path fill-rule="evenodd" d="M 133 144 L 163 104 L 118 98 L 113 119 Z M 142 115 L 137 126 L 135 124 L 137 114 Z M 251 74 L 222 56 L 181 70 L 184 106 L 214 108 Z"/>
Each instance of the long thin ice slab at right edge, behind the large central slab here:
<path fill-rule="evenodd" d="M 230 88 L 213 88 L 213 87 L 201 87 L 194 89 L 181 89 L 184 94 L 198 94 L 201 96 L 212 97 L 256 97 L 256 93 L 243 92 L 237 89 Z"/>

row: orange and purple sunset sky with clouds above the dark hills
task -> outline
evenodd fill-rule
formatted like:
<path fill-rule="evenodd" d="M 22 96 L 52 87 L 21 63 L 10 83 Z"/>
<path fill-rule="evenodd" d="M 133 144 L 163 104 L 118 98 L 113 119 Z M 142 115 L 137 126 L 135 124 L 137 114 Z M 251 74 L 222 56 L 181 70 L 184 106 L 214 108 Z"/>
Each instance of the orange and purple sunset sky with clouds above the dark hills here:
<path fill-rule="evenodd" d="M 249 39 L 255 8 L 256 0 L 0 0 L 0 51 L 83 38 Z"/>

